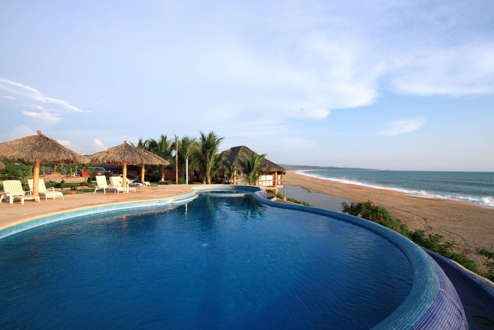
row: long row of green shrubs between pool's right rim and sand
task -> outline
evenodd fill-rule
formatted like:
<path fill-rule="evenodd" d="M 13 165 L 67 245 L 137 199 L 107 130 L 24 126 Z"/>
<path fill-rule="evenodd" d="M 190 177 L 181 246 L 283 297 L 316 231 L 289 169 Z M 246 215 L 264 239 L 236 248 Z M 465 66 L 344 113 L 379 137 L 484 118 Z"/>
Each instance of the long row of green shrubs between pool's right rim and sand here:
<path fill-rule="evenodd" d="M 379 225 L 392 229 L 395 232 L 407 236 L 418 245 L 452 259 L 473 272 L 479 272 L 475 261 L 466 258 L 460 253 L 454 252 L 454 246 L 456 245 L 455 242 L 443 241 L 443 236 L 438 234 L 429 234 L 426 237 L 424 231 L 421 230 L 415 230 L 412 232 L 407 228 L 407 225 L 393 218 L 389 214 L 389 211 L 382 206 L 377 206 L 371 201 L 367 201 L 365 203 L 352 202 L 350 205 L 343 202 L 341 203 L 341 207 L 343 208 L 343 213 L 370 220 Z"/>

